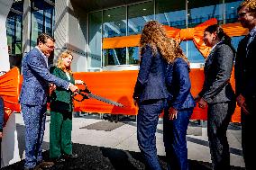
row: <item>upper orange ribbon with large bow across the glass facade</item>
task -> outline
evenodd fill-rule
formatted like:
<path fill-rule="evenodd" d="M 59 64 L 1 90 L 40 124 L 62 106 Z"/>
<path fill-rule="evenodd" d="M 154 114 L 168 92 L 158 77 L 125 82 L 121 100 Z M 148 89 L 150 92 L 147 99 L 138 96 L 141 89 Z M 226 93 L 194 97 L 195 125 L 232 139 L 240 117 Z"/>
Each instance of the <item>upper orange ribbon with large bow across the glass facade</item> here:
<path fill-rule="evenodd" d="M 206 47 L 203 41 L 203 33 L 207 26 L 216 24 L 217 20 L 212 18 L 206 22 L 200 23 L 195 28 L 178 29 L 164 25 L 167 31 L 167 35 L 170 38 L 175 38 L 176 40 L 193 40 L 197 49 L 206 58 L 209 54 L 209 47 Z M 242 28 L 241 23 L 227 23 L 222 25 L 224 32 L 230 37 L 242 36 L 248 33 L 247 29 Z M 103 39 L 103 49 L 114 49 L 114 48 L 124 48 L 124 47 L 137 47 L 139 46 L 141 34 L 130 35 L 123 37 L 114 38 L 104 38 Z"/>

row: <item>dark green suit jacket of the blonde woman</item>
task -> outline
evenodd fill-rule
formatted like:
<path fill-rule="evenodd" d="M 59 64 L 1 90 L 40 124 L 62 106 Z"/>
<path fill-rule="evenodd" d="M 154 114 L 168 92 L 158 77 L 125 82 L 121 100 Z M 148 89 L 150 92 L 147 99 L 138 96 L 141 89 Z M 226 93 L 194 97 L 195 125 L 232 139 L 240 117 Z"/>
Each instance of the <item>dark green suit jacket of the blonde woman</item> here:
<path fill-rule="evenodd" d="M 69 81 L 71 84 L 75 84 L 75 79 L 73 76 L 70 75 L 70 80 L 66 73 L 59 69 L 58 67 L 51 67 L 50 73 L 54 76 L 58 76 L 59 78 Z M 51 94 L 50 94 L 50 111 L 55 112 L 72 112 L 73 104 L 72 104 L 72 97 L 71 91 L 57 87 Z"/>

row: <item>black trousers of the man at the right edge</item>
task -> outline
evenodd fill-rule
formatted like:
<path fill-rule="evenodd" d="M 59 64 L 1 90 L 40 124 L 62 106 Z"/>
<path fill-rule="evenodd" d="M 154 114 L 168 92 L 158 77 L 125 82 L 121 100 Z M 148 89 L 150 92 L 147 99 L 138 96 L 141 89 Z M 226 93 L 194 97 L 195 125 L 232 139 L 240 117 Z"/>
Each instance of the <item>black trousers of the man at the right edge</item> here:
<path fill-rule="evenodd" d="M 255 157 L 253 157 L 256 153 L 256 105 L 254 105 L 254 110 L 250 110 L 249 113 L 241 113 L 242 154 L 246 170 L 254 170 L 256 169 Z"/>

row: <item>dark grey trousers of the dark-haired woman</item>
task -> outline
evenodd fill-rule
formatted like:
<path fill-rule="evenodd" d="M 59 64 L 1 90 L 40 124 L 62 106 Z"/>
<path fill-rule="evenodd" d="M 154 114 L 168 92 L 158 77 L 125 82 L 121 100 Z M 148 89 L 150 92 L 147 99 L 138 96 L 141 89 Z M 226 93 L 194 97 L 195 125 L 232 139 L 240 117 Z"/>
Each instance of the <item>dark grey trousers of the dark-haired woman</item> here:
<path fill-rule="evenodd" d="M 235 109 L 235 101 L 208 104 L 207 133 L 214 170 L 230 169 L 226 130 Z"/>

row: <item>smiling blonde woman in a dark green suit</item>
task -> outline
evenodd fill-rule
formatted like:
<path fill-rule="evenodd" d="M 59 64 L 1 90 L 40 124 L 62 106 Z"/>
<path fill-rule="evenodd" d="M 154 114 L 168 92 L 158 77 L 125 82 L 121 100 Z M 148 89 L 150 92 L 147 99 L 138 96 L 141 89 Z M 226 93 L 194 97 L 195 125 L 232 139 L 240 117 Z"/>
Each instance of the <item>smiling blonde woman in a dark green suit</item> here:
<path fill-rule="evenodd" d="M 63 52 L 57 62 L 57 67 L 51 67 L 50 72 L 71 84 L 82 84 L 75 80 L 70 69 L 73 56 L 69 51 Z M 76 158 L 72 153 L 71 130 L 73 103 L 71 91 L 55 87 L 50 94 L 50 158 L 56 162 L 64 162 L 67 158 Z"/>

